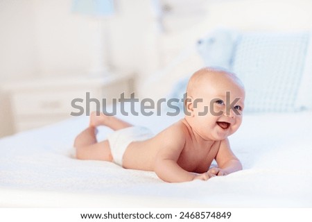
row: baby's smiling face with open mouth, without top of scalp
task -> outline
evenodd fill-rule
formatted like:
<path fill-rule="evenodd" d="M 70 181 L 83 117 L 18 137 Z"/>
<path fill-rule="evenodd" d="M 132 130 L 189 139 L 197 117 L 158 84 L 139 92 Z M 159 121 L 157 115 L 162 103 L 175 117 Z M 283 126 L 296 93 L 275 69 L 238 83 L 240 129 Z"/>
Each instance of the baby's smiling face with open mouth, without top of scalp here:
<path fill-rule="evenodd" d="M 193 103 L 193 129 L 204 139 L 222 140 L 238 130 L 242 122 L 245 92 L 231 78 L 202 84 L 202 102 Z"/>

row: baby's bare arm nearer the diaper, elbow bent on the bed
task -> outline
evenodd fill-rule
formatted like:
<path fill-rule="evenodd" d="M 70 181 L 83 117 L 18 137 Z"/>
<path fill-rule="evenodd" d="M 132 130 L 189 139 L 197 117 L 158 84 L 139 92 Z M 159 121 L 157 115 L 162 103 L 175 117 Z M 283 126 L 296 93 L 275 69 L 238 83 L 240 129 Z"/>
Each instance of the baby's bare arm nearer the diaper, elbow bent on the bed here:
<path fill-rule="evenodd" d="M 191 181 L 196 174 L 182 169 L 177 160 L 184 148 L 185 136 L 178 126 L 171 126 L 157 135 L 157 144 L 162 146 L 155 160 L 155 173 L 166 182 Z"/>

